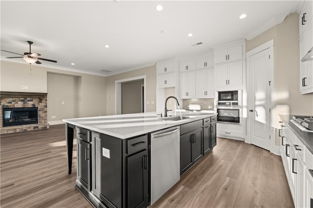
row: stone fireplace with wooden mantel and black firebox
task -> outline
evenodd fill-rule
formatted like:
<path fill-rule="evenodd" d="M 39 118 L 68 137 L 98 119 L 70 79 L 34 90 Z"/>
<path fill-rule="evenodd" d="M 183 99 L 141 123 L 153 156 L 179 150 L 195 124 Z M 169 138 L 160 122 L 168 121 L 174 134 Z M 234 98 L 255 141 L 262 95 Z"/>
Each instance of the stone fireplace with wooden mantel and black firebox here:
<path fill-rule="evenodd" d="M 0 92 L 0 100 L 1 134 L 49 128 L 49 124 L 47 123 L 47 93 Z M 12 113 L 9 111 L 12 109 L 16 111 L 15 118 L 9 118 L 9 114 Z M 35 109 L 37 115 L 31 112 Z M 30 112 L 27 113 L 26 111 Z M 3 115 L 3 113 L 6 115 Z M 37 116 L 38 119 L 36 122 L 30 122 L 30 120 L 34 120 L 34 117 Z M 3 124 L 5 119 L 7 123 L 11 123 L 9 126 Z M 19 125 L 12 125 L 15 120 L 21 123 Z"/>

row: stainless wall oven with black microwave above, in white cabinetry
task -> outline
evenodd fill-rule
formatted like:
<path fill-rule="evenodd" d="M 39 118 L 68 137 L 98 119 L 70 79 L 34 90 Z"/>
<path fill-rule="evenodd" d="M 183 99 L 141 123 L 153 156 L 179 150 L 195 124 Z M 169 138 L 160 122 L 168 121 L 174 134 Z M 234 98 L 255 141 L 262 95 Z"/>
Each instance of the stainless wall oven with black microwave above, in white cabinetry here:
<path fill-rule="evenodd" d="M 221 91 L 217 93 L 217 122 L 242 125 L 242 90 Z"/>

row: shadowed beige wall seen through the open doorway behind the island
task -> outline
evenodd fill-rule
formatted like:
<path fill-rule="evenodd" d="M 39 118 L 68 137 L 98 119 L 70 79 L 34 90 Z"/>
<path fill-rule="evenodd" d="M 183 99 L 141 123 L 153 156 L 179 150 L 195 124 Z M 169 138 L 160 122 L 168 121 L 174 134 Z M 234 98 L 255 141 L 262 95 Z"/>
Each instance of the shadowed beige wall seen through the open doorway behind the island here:
<path fill-rule="evenodd" d="M 121 84 L 122 114 L 141 113 L 143 80 Z"/>

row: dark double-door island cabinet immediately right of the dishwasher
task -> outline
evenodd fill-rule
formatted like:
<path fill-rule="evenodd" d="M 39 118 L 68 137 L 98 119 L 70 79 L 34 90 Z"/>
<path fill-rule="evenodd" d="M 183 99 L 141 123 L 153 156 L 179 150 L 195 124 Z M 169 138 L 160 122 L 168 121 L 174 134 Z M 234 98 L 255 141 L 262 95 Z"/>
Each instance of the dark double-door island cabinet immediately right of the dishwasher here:
<path fill-rule="evenodd" d="M 180 126 L 180 175 L 203 157 L 202 120 Z M 200 128 L 199 128 L 200 127 Z M 198 128 L 195 130 L 195 128 Z"/>

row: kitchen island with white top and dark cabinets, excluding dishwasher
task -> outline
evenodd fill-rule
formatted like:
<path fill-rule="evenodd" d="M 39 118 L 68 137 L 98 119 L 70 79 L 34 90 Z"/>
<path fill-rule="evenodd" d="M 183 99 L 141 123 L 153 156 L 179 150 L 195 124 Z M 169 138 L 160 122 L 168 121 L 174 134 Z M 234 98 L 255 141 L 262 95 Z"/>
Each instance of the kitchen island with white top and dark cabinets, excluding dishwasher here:
<path fill-rule="evenodd" d="M 180 175 L 216 145 L 216 114 L 137 113 L 66 119 L 68 174 L 77 133 L 76 188 L 94 207 L 147 207 L 151 202 L 151 133 L 180 128 Z M 179 136 L 180 135 L 180 136 Z M 168 158 L 171 160 L 171 158 Z"/>

